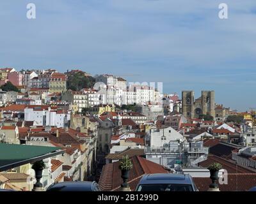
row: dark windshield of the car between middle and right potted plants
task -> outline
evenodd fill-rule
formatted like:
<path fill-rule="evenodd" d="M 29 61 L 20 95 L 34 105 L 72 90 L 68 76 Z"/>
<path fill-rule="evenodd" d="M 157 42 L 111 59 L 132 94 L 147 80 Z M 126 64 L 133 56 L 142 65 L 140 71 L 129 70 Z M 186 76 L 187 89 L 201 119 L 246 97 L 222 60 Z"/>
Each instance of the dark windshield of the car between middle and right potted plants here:
<path fill-rule="evenodd" d="M 138 187 L 138 191 L 193 191 L 188 184 L 144 184 Z"/>

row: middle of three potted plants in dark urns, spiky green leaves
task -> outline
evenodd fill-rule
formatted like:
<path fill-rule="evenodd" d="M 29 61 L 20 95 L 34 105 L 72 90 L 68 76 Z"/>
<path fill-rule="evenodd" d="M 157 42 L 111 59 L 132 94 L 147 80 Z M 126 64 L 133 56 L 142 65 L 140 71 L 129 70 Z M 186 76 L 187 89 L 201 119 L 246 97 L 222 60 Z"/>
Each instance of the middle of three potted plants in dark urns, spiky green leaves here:
<path fill-rule="evenodd" d="M 122 187 L 129 187 L 129 184 L 127 184 L 127 180 L 129 179 L 129 172 L 132 169 L 132 161 L 129 159 L 128 155 L 125 155 L 122 160 L 120 160 L 119 169 L 122 172 L 122 179 L 124 180 L 124 184 L 122 184 Z"/>

